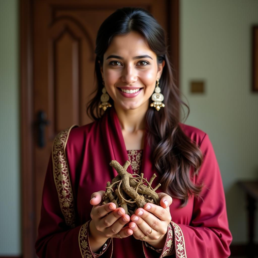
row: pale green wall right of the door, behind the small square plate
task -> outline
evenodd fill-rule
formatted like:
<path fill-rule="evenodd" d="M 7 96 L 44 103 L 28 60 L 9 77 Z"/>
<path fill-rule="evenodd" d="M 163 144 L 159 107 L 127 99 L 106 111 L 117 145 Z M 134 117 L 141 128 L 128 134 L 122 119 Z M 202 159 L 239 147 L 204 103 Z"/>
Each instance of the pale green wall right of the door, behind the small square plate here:
<path fill-rule="evenodd" d="M 251 92 L 251 26 L 256 0 L 181 0 L 180 86 L 186 124 L 209 134 L 222 174 L 233 243 L 247 241 L 241 179 L 258 179 L 258 93 Z M 189 82 L 206 82 L 191 94 Z M 258 226 L 258 217 L 256 216 Z M 256 241 L 258 227 L 256 227 Z"/>

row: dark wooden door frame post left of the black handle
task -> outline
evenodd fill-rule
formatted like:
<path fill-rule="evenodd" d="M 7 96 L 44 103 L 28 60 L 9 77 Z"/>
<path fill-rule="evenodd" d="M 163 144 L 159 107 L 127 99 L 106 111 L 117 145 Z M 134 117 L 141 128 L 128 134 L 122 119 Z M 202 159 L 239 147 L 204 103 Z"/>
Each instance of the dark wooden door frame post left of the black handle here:
<path fill-rule="evenodd" d="M 22 257 L 35 257 L 33 173 L 33 0 L 20 0 L 20 169 Z"/>

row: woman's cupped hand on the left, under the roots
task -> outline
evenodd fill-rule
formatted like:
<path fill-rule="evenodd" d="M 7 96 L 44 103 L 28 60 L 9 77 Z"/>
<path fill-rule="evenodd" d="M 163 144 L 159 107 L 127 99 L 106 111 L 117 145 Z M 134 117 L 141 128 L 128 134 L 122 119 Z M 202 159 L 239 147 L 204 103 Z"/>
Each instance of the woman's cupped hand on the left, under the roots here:
<path fill-rule="evenodd" d="M 90 204 L 93 205 L 89 232 L 91 249 L 95 249 L 92 248 L 93 241 L 96 242 L 97 245 L 100 245 L 103 241 L 104 244 L 110 237 L 119 238 L 117 234 L 120 235 L 121 238 L 133 234 L 132 229 L 128 226 L 124 227 L 124 225 L 130 221 L 130 216 L 125 214 L 123 208 L 116 208 L 114 203 L 101 205 L 104 194 L 104 191 L 98 191 L 91 195 Z M 100 245 L 99 248 L 102 245 Z"/>

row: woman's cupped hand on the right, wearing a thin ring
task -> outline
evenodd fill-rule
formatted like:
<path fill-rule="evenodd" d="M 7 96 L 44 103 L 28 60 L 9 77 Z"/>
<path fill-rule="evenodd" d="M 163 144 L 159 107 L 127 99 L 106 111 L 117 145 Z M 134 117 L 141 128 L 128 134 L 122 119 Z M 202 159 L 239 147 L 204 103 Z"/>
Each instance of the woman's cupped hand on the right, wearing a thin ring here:
<path fill-rule="evenodd" d="M 143 208 L 138 208 L 131 216 L 132 222 L 129 223 L 129 228 L 133 230 L 133 236 L 136 239 L 161 249 L 165 245 L 167 227 L 171 222 L 169 206 L 172 198 L 166 193 L 158 193 L 158 196 L 160 206 L 146 203 Z"/>

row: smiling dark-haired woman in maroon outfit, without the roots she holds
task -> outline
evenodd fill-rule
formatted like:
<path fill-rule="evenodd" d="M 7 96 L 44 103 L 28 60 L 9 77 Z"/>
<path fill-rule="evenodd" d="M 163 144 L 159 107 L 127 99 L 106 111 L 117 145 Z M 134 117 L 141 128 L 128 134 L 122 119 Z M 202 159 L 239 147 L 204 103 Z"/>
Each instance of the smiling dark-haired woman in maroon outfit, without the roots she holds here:
<path fill-rule="evenodd" d="M 143 9 L 123 8 L 96 39 L 95 122 L 60 132 L 42 201 L 39 257 L 228 257 L 219 167 L 207 134 L 181 124 L 164 31 Z M 129 173 L 162 186 L 160 205 L 131 217 L 102 204 L 105 186 L 130 159 Z M 173 197 L 173 203 L 172 198 Z M 90 202 L 89 202 L 90 200 Z"/>

